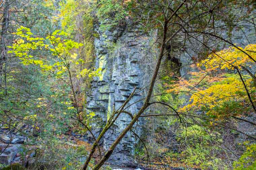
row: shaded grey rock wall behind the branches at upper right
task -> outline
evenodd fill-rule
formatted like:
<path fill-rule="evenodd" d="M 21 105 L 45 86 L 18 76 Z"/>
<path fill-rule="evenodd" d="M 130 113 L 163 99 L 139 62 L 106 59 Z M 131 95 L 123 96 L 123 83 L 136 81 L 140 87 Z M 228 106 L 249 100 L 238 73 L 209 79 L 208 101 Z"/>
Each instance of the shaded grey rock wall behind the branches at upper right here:
<path fill-rule="evenodd" d="M 245 14 L 247 11 L 247 9 L 245 8 L 243 13 Z M 234 13 L 237 11 L 234 11 Z M 240 13 L 241 11 L 239 11 L 238 13 Z M 252 11 L 252 13 L 255 14 L 256 10 Z M 255 22 L 255 19 L 254 19 Z M 233 27 L 232 31 L 230 32 L 228 30 L 229 27 L 225 26 L 225 23 L 222 21 L 217 21 L 215 23 L 217 29 L 215 29 L 215 33 L 219 36 L 222 37 L 226 40 L 228 40 L 229 42 L 236 44 L 237 46 L 240 47 L 245 47 L 249 44 L 255 44 L 256 43 L 256 32 L 255 32 L 255 27 L 252 23 L 252 18 L 248 18 L 248 22 L 245 22 L 243 20 L 241 21 L 237 21 L 235 24 L 240 25 L 239 27 L 235 26 Z M 209 33 L 213 34 L 213 31 L 209 31 Z M 193 35 L 193 34 L 191 34 Z M 231 35 L 231 36 L 229 36 Z M 184 38 L 183 35 L 181 35 L 182 38 Z M 194 35 L 193 35 L 194 36 Z M 203 36 L 195 36 L 199 41 L 204 42 Z M 180 69 L 180 73 L 181 76 L 183 77 L 190 77 L 189 74 L 187 74 L 189 71 L 195 71 L 197 70 L 195 67 L 191 67 L 189 64 L 193 63 L 192 58 L 202 58 L 202 53 L 205 50 L 208 50 L 207 48 L 205 48 L 204 46 L 202 46 L 202 44 L 199 42 L 194 40 L 193 38 L 190 39 L 189 42 L 186 43 L 186 50 L 184 51 L 180 51 L 179 54 L 177 54 L 177 56 L 179 56 L 178 58 L 180 59 L 180 62 L 182 63 L 181 69 Z M 215 48 L 217 51 L 223 50 L 224 48 L 228 48 L 232 45 L 223 42 L 221 39 L 218 38 L 211 38 L 210 40 L 208 40 L 207 42 L 204 42 L 204 44 L 206 44 L 207 46 L 211 47 L 212 49 Z M 209 51 L 211 52 L 211 51 Z M 202 58 L 203 59 L 203 58 Z M 256 72 L 256 68 L 252 67 L 249 68 L 249 70 L 251 70 L 253 73 Z M 247 73 L 245 73 L 247 74 Z"/>

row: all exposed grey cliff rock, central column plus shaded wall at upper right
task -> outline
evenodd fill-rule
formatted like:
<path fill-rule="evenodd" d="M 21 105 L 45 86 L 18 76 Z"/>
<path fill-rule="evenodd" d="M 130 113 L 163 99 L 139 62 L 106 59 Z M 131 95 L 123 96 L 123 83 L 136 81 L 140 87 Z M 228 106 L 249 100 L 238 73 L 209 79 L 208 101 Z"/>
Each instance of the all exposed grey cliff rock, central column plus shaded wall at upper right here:
<path fill-rule="evenodd" d="M 106 22 L 108 21 L 99 23 L 95 27 L 95 31 L 98 33 L 98 37 L 95 38 L 94 42 L 96 51 L 95 69 L 101 68 L 102 71 L 101 76 L 93 79 L 91 93 L 87 97 L 87 113 L 94 112 L 96 114 L 91 123 L 95 136 L 98 136 L 101 132 L 108 116 L 113 111 L 114 103 L 115 107 L 119 108 L 135 87 L 139 89 L 148 85 L 156 57 L 151 49 L 156 33 L 153 33 L 153 36 L 146 35 L 141 32 L 142 29 L 140 29 L 139 25 L 129 23 L 125 27 L 102 31 L 100 25 L 106 24 Z M 242 26 L 233 28 L 231 33 L 221 25 L 225 24 L 223 22 L 216 23 L 216 27 L 218 27 L 215 30 L 216 33 L 225 39 L 231 34 L 232 37 L 228 39 L 230 42 L 237 43 L 238 46 L 242 47 L 256 43 L 255 27 L 253 27 L 253 24 L 241 23 Z M 230 44 L 223 43 L 218 38 L 208 39 L 205 42 L 201 35 L 195 35 L 193 37 L 196 37 L 199 41 L 190 38 L 184 48 L 179 48 L 178 52 L 175 53 L 175 57 L 179 59 L 180 66 L 182 66 L 180 68 L 180 76 L 185 78 L 190 77 L 189 71 L 197 70 L 196 67 L 191 67 L 191 63 L 194 62 L 193 58 L 203 59 L 203 55 L 207 56 L 207 54 L 202 54 L 207 49 L 202 46 L 200 41 L 204 42 L 207 46 L 214 47 L 217 51 L 230 46 Z M 184 37 L 181 33 L 177 39 L 183 40 Z M 255 68 L 251 69 L 255 72 Z M 145 97 L 145 90 L 135 94 L 128 105 L 143 97 Z M 189 96 L 184 95 L 184 98 L 189 98 Z M 134 114 L 141 106 L 142 101 L 137 102 L 127 108 L 127 111 Z M 130 120 L 129 115 L 125 113 L 120 115 L 114 126 L 106 132 L 100 141 L 104 149 L 109 148 L 111 143 L 129 124 Z M 134 125 L 138 135 L 142 131 L 141 124 L 143 124 L 142 119 Z M 90 134 L 88 134 L 88 139 L 93 141 Z M 132 160 L 131 156 L 134 152 L 135 143 L 135 135 L 132 132 L 128 132 L 116 147 L 109 162 L 116 165 L 129 165 Z"/>

